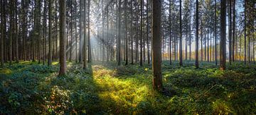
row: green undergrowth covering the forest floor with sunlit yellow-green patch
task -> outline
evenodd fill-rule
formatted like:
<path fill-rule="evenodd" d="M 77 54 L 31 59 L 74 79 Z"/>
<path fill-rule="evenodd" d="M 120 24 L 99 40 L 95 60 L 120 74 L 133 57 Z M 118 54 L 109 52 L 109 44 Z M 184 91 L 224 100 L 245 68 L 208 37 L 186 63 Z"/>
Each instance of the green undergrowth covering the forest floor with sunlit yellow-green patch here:
<path fill-rule="evenodd" d="M 0 68 L 0 114 L 256 114 L 256 66 L 162 65 L 169 93 L 152 89 L 151 66 L 94 62 L 87 70 L 21 61 Z"/>

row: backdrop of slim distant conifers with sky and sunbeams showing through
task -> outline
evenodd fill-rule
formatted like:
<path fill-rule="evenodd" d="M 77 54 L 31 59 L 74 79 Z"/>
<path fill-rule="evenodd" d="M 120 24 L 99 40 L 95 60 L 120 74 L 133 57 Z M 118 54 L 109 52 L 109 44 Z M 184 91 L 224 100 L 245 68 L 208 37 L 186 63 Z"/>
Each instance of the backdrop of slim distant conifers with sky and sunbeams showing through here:
<path fill-rule="evenodd" d="M 66 1 L 65 53 L 69 61 L 117 61 L 117 65 L 150 64 L 150 1 Z M 220 1 L 163 1 L 161 59 L 198 67 L 220 59 Z M 228 60 L 255 61 L 255 12 L 252 1 L 228 1 Z M 11 7 L 14 6 L 14 7 Z M 100 7 L 99 7 L 100 6 Z M 79 8 L 78 8 L 79 7 Z M 59 59 L 60 2 L 1 0 L 1 65 L 4 62 Z M 79 30 L 79 32 L 77 32 Z M 62 33 L 63 34 L 63 33 Z M 195 40 L 193 38 L 196 38 Z M 223 43 L 226 44 L 226 43 Z M 222 45 L 223 45 L 222 44 Z M 198 52 L 197 52 L 198 51 Z M 201 55 L 201 56 L 200 56 Z M 226 54 L 224 54 L 226 55 Z"/>

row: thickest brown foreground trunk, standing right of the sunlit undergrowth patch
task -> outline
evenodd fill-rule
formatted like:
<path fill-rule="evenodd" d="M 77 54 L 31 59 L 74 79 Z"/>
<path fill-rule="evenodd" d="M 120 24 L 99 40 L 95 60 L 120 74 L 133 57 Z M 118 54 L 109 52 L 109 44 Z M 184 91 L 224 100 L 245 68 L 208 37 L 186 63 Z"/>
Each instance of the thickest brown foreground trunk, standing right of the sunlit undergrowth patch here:
<path fill-rule="evenodd" d="M 154 73 L 153 87 L 155 90 L 163 90 L 161 75 L 161 1 L 152 1 L 152 70 Z"/>

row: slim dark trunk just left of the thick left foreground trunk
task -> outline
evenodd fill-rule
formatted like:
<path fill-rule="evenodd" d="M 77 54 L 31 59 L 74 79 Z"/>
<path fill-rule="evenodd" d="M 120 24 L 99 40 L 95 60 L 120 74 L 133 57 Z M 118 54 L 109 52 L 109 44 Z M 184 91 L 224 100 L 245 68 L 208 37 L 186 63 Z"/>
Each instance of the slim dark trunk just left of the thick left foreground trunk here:
<path fill-rule="evenodd" d="M 49 41 L 49 50 L 48 50 L 48 66 L 51 66 L 52 64 L 52 58 L 53 58 L 53 44 L 52 44 L 52 35 L 51 35 L 51 30 L 52 30 L 52 0 L 49 0 L 48 2 L 48 8 L 49 8 L 49 17 L 48 17 L 48 24 L 49 24 L 49 36 L 48 36 L 48 41 Z"/>

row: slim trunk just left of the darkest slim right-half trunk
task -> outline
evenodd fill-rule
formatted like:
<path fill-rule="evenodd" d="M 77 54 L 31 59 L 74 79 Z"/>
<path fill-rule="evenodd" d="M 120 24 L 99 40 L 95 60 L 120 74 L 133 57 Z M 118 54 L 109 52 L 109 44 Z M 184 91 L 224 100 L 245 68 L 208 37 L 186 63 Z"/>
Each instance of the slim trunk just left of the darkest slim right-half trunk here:
<path fill-rule="evenodd" d="M 182 63 L 182 20 L 181 20 L 181 6 L 182 6 L 182 4 L 181 4 L 181 0 L 180 0 L 180 11 L 179 11 L 179 21 L 180 21 L 180 40 L 179 40 L 179 65 L 180 66 L 183 66 L 183 63 Z"/>

